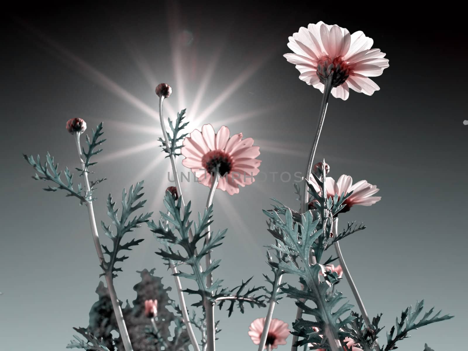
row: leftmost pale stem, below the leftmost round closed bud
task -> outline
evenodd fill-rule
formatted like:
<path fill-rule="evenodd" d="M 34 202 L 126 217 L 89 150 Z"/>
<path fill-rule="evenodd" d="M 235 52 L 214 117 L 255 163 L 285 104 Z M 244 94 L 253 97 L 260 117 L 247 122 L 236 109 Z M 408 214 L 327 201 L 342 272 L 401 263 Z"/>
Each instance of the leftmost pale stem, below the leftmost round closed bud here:
<path fill-rule="evenodd" d="M 94 246 L 96 248 L 97 256 L 99 258 L 99 264 L 102 265 L 104 262 L 104 255 L 102 254 L 101 243 L 99 242 L 99 234 L 96 227 L 96 219 L 94 216 L 93 202 L 91 200 L 91 188 L 88 180 L 88 170 L 85 168 L 85 162 L 83 161 L 83 154 L 80 146 L 80 134 L 75 133 L 75 142 L 78 149 L 78 156 L 80 157 L 81 168 L 83 169 L 83 177 L 85 180 L 86 187 L 86 206 L 88 207 L 89 224 L 91 226 L 91 234 L 93 235 Z M 117 299 L 117 293 L 114 288 L 114 282 L 112 278 L 112 272 L 105 274 L 107 288 L 109 290 L 110 300 L 112 301 L 112 307 L 114 308 L 114 314 L 117 320 L 117 325 L 124 344 L 125 351 L 132 351 L 132 343 L 130 342 L 130 336 L 128 336 L 127 327 L 125 326 L 124 315 L 120 308 L 119 300 Z"/>

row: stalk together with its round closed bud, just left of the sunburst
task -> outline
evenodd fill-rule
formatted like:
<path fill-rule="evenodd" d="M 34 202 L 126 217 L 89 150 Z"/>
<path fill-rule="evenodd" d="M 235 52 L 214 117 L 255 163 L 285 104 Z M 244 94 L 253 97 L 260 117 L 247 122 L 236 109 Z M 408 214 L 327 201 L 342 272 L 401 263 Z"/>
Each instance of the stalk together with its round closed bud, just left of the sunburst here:
<path fill-rule="evenodd" d="M 169 97 L 172 92 L 172 88 L 165 83 L 162 83 L 158 85 L 156 88 L 156 94 L 159 96 L 159 118 L 161 122 L 161 130 L 162 134 L 164 136 L 164 142 L 166 143 L 166 148 L 169 150 L 169 137 L 168 137 L 168 132 L 166 131 L 166 124 L 164 123 L 164 117 L 162 113 L 162 103 L 164 102 L 164 99 Z M 177 166 L 176 166 L 176 157 L 172 152 L 169 154 L 169 159 L 171 161 L 171 166 L 172 166 L 172 173 L 174 173 L 174 180 L 176 182 L 176 189 L 177 189 L 177 194 L 181 199 L 182 202 L 182 211 L 185 209 L 185 203 L 183 201 L 183 194 L 182 194 L 182 188 L 180 186 L 180 181 L 179 181 L 179 176 L 177 172 Z M 192 234 L 191 231 L 189 231 L 189 236 L 190 240 L 192 239 Z M 173 274 L 177 273 L 177 267 L 175 264 L 171 265 L 171 270 Z M 197 342 L 197 337 L 195 336 L 195 333 L 193 331 L 192 325 L 190 323 L 190 316 L 187 312 L 187 305 L 185 303 L 185 298 L 183 296 L 182 292 L 182 284 L 180 282 L 180 278 L 177 276 L 174 276 L 175 282 L 176 282 L 176 287 L 177 287 L 177 294 L 179 295 L 179 301 L 181 304 L 181 310 L 182 310 L 182 316 L 183 316 L 183 322 L 185 324 L 185 327 L 187 328 L 187 333 L 189 334 L 190 337 L 190 342 L 193 345 L 193 348 L 195 351 L 200 351 L 200 347 L 198 346 Z"/>

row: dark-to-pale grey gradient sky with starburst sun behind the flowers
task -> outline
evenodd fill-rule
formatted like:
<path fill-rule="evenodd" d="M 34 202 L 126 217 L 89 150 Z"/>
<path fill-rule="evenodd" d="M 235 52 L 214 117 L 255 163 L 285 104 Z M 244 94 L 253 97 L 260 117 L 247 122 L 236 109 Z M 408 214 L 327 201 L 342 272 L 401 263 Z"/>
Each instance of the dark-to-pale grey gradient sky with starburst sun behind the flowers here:
<path fill-rule="evenodd" d="M 383 313 L 386 331 L 402 308 L 424 298 L 428 308 L 455 318 L 413 331 L 400 350 L 422 351 L 424 343 L 436 351 L 463 347 L 468 126 L 462 122 L 468 119 L 468 77 L 458 19 L 402 13 L 386 19 L 377 12 L 350 15 L 293 2 L 274 9 L 168 4 L 31 9 L 1 22 L 0 349 L 64 350 L 72 327 L 88 325 L 88 309 L 97 300 L 100 268 L 86 209 L 63 192 L 41 190 L 45 183 L 30 178 L 34 172 L 22 153 L 49 151 L 60 166 L 78 167 L 66 120 L 82 117 L 89 131 L 104 121 L 108 141 L 95 171 L 109 180 L 96 193 L 97 219 L 109 222 L 108 193 L 118 200 L 123 187 L 140 179 L 146 180 L 147 210 L 161 210 L 169 161 L 156 142 L 154 87 L 160 82 L 173 88 L 167 117 L 187 108 L 189 131 L 226 124 L 260 146 L 267 181 L 232 197 L 215 194 L 213 229 L 229 230 L 213 257 L 223 259 L 216 276 L 227 286 L 251 275 L 263 285 L 261 273 L 269 271 L 263 246 L 272 238 L 261 210 L 270 208 L 269 197 L 299 206 L 292 181 L 283 183 L 278 175 L 273 181 L 270 172 L 303 172 L 322 97 L 282 55 L 290 52 L 288 36 L 320 20 L 363 30 L 390 60 L 374 79 L 381 90 L 373 96 L 330 98 L 316 154 L 331 164 L 330 176 L 348 174 L 380 188 L 376 205 L 340 215 L 340 227 L 348 220 L 368 226 L 342 243 L 367 311 Z M 202 211 L 208 188 L 183 185 L 193 209 Z M 147 240 L 115 280 L 121 300 L 135 298 L 135 271 L 143 268 L 156 267 L 165 284 L 173 284 L 154 255 L 158 243 L 149 230 L 142 227 L 135 235 Z M 353 303 L 345 282 L 340 288 Z M 228 319 L 217 310 L 223 329 L 217 349 L 256 350 L 247 331 L 265 313 L 248 308 Z M 274 317 L 291 323 L 294 315 L 293 301 L 284 299 Z M 289 350 L 291 340 L 280 350 Z"/>

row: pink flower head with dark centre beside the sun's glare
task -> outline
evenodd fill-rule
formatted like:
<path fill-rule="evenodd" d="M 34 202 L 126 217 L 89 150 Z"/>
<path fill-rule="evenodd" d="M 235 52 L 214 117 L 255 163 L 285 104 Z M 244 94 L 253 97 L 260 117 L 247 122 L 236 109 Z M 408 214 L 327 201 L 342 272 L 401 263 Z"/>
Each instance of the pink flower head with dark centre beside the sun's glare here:
<path fill-rule="evenodd" d="M 260 151 L 253 146 L 254 139 L 242 139 L 242 133 L 229 135 L 224 125 L 215 133 L 211 124 L 205 124 L 201 132 L 196 129 L 183 140 L 181 153 L 185 156 L 182 164 L 194 172 L 198 183 L 211 187 L 218 173 L 217 189 L 234 195 L 239 186 L 254 182 L 261 161 L 256 159 Z"/>

